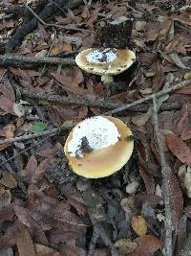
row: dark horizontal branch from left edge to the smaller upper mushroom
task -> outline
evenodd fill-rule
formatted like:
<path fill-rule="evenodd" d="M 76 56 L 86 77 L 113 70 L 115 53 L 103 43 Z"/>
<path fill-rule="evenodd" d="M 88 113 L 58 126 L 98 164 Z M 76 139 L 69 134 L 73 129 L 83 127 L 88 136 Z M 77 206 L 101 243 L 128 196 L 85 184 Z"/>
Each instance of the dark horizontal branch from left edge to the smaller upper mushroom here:
<path fill-rule="evenodd" d="M 52 64 L 52 65 L 74 65 L 75 60 L 73 58 L 36 58 L 36 57 L 25 57 L 25 56 L 14 56 L 14 55 L 1 55 L 0 66 L 16 66 L 26 67 L 26 64 Z"/>

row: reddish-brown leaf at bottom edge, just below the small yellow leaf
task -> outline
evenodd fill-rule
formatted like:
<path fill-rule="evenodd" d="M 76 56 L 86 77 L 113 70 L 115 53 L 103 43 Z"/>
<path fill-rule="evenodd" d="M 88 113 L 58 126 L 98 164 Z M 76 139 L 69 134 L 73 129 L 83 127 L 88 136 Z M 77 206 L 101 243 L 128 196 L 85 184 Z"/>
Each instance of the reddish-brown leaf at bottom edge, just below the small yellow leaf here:
<path fill-rule="evenodd" d="M 150 256 L 163 245 L 162 241 L 153 235 L 138 237 L 135 242 L 138 243 L 138 247 L 128 256 Z"/>

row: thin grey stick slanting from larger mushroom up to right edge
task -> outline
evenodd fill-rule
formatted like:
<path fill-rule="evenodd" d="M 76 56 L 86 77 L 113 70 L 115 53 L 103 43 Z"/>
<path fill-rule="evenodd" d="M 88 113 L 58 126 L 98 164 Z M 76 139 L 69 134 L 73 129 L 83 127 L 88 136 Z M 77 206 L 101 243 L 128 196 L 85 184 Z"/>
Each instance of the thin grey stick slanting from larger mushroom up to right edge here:
<path fill-rule="evenodd" d="M 156 98 L 159 98 L 159 97 L 162 96 L 162 95 L 165 95 L 165 94 L 168 94 L 168 93 L 173 92 L 173 91 L 175 91 L 175 90 L 178 90 L 178 89 L 182 88 L 183 86 L 186 86 L 186 85 L 190 84 L 190 82 L 191 82 L 191 80 L 189 80 L 189 81 L 180 81 L 180 83 L 178 83 L 178 84 L 176 84 L 176 85 L 174 85 L 174 86 L 172 86 L 172 87 L 170 87 L 170 88 L 167 88 L 167 89 L 165 89 L 165 90 L 161 90 L 161 91 L 159 91 L 159 92 L 157 92 L 157 93 L 154 93 L 154 94 L 152 94 L 152 95 L 149 95 L 149 96 L 147 96 L 147 97 L 144 97 L 144 98 L 142 98 L 142 99 L 140 99 L 140 100 L 138 100 L 138 101 L 136 101 L 136 102 L 134 102 L 134 103 L 132 103 L 132 104 L 122 105 L 122 106 L 120 106 L 120 107 L 117 107 L 117 108 L 114 109 L 114 110 L 105 112 L 104 114 L 105 114 L 105 115 L 116 114 L 116 113 L 121 112 L 121 111 L 123 111 L 123 110 L 126 110 L 126 109 L 128 109 L 128 108 L 131 108 L 131 107 L 133 107 L 133 106 L 135 106 L 135 105 L 140 105 L 140 104 L 142 104 L 142 103 L 148 102 L 148 101 L 152 100 L 154 96 L 155 96 Z"/>

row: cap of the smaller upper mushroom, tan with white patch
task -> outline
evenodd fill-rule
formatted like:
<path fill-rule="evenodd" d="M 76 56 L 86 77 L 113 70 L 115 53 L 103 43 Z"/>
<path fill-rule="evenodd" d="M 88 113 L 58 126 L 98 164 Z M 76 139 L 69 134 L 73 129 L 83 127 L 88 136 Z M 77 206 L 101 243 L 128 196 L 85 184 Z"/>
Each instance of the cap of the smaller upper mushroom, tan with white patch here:
<path fill-rule="evenodd" d="M 131 50 L 115 48 L 90 48 L 75 57 L 82 70 L 96 75 L 117 75 L 128 69 L 136 55 Z"/>

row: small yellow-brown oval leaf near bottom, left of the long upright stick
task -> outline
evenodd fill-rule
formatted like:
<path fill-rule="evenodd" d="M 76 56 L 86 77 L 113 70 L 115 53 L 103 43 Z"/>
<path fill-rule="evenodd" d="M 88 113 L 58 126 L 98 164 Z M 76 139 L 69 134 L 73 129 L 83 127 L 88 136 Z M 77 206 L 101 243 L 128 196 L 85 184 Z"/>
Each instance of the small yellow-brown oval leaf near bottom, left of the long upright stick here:
<path fill-rule="evenodd" d="M 139 237 L 145 236 L 147 233 L 146 221 L 142 216 L 135 216 L 131 221 L 134 231 L 138 234 Z"/>

